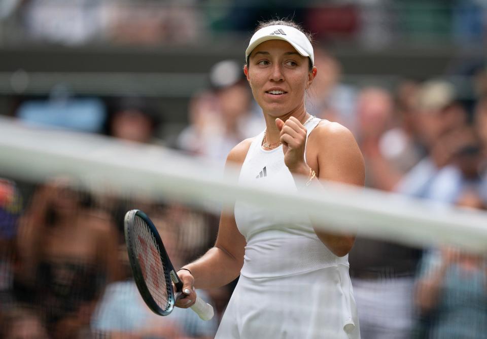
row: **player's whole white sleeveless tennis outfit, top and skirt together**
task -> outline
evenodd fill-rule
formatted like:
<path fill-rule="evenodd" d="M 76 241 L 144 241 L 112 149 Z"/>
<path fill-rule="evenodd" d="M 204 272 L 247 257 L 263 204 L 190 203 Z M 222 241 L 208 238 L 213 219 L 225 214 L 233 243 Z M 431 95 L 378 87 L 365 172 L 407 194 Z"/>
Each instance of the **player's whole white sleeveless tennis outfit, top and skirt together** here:
<path fill-rule="evenodd" d="M 307 135 L 320 123 L 306 125 Z M 252 142 L 239 182 L 296 191 L 282 146 Z M 240 278 L 215 336 L 217 339 L 358 339 L 357 309 L 348 255 L 334 255 L 307 217 L 269 217 L 265 207 L 235 203 L 235 221 L 247 246 Z"/>

